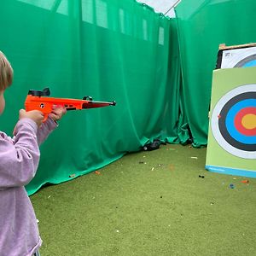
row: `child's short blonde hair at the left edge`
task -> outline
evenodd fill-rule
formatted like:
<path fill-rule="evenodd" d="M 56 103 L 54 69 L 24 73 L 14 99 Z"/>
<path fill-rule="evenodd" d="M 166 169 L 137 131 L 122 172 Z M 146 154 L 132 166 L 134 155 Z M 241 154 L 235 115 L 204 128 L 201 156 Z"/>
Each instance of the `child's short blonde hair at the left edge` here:
<path fill-rule="evenodd" d="M 0 50 L 0 91 L 5 90 L 13 82 L 14 71 L 6 56 Z"/>

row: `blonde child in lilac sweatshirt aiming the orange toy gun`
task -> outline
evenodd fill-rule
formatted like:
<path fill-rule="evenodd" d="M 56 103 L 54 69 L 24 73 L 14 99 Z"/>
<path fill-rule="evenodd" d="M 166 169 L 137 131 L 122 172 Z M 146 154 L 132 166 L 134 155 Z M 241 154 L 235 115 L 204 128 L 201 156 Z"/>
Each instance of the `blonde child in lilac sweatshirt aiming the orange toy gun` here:
<path fill-rule="evenodd" d="M 13 69 L 0 51 L 0 114 L 5 107 L 4 90 L 12 83 Z M 24 186 L 35 176 L 39 161 L 38 145 L 43 143 L 65 108 L 54 108 L 43 123 L 38 110 L 20 109 L 14 137 L 0 131 L 0 255 L 39 255 L 41 238 L 32 203 Z"/>

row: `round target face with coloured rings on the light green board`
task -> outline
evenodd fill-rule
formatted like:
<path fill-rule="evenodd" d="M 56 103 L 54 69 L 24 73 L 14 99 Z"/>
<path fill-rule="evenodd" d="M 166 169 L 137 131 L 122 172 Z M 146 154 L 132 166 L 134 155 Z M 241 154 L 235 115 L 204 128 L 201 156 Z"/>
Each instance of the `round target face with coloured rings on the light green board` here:
<path fill-rule="evenodd" d="M 230 154 L 256 159 L 256 84 L 230 90 L 212 111 L 212 134 Z"/>

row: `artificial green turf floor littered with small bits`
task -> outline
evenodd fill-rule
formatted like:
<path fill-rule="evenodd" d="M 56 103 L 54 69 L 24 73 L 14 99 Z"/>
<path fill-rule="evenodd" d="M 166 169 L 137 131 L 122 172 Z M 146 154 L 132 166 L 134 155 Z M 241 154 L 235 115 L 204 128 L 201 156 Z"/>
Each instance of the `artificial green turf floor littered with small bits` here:
<path fill-rule="evenodd" d="M 39 190 L 42 256 L 255 255 L 256 180 L 207 172 L 206 152 L 161 145 Z"/>

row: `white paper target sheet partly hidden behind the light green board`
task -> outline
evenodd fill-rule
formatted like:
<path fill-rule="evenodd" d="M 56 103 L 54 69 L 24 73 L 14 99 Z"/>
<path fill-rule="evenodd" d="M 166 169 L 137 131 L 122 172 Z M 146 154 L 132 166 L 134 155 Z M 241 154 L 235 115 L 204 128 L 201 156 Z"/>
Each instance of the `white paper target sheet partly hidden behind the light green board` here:
<path fill-rule="evenodd" d="M 227 49 L 222 53 L 221 68 L 255 67 L 256 47 Z"/>

